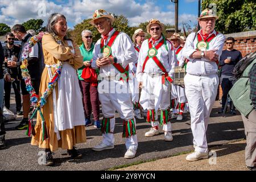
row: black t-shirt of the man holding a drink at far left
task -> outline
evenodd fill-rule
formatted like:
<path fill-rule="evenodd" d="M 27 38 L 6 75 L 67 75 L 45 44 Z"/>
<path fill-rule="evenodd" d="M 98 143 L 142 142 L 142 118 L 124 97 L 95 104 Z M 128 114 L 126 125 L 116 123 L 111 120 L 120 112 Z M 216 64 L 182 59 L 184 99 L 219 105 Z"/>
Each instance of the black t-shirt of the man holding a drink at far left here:
<path fill-rule="evenodd" d="M 7 58 L 10 58 L 11 56 L 19 57 L 19 51 L 20 48 L 18 46 L 15 46 L 12 49 L 9 49 L 7 45 L 3 47 L 3 55 Z M 18 76 L 18 67 L 15 68 L 9 68 L 7 67 L 7 63 L 5 63 L 5 67 L 8 68 L 8 72 L 12 78 L 16 78 Z M 20 78 L 20 77 L 19 77 Z"/>

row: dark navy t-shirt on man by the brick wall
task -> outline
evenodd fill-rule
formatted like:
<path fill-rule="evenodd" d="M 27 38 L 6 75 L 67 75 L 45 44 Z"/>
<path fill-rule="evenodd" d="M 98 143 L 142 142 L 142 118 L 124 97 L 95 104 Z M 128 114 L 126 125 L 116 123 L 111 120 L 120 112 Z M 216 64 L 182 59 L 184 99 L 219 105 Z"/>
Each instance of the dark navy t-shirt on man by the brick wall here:
<path fill-rule="evenodd" d="M 231 57 L 230 63 L 224 63 L 224 60 L 228 57 Z M 242 54 L 240 51 L 233 49 L 232 51 L 224 50 L 222 51 L 220 57 L 220 66 L 221 68 L 221 75 L 233 76 L 232 71 L 235 65 L 242 59 Z"/>

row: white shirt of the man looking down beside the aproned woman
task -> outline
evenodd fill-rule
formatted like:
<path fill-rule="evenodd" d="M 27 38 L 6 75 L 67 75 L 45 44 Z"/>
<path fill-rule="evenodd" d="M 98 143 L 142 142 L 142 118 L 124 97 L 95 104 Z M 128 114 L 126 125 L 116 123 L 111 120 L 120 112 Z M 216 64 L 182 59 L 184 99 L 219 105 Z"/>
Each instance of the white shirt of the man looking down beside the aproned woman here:
<path fill-rule="evenodd" d="M 115 29 L 109 32 L 109 37 L 104 43 L 104 45 L 108 44 L 110 37 L 114 33 Z M 133 47 L 133 43 L 129 36 L 123 32 L 119 32 L 117 38 L 114 40 L 114 43 L 111 47 L 112 56 L 117 58 L 117 63 L 120 63 L 123 68 L 126 68 L 127 64 L 132 63 L 138 59 L 137 54 L 135 52 L 135 48 Z M 98 58 L 98 54 L 101 53 L 101 39 L 97 41 L 93 49 L 93 60 L 92 60 L 92 68 L 97 68 L 96 60 Z M 115 75 L 119 72 L 112 64 L 105 65 L 100 68 L 101 76 L 109 77 L 110 71 L 115 70 Z M 114 75 L 114 76 L 115 76 Z M 112 75 L 113 76 L 113 73 Z"/>

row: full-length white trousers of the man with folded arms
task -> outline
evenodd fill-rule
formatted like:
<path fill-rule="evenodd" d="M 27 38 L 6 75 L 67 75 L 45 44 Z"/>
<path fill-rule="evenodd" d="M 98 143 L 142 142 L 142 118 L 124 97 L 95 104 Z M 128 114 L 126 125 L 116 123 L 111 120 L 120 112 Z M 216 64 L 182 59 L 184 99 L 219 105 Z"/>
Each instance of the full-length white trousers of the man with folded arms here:
<path fill-rule="evenodd" d="M 206 131 L 210 117 L 210 111 L 217 95 L 218 76 L 185 75 L 185 94 L 191 115 L 191 130 L 195 151 L 207 152 Z"/>

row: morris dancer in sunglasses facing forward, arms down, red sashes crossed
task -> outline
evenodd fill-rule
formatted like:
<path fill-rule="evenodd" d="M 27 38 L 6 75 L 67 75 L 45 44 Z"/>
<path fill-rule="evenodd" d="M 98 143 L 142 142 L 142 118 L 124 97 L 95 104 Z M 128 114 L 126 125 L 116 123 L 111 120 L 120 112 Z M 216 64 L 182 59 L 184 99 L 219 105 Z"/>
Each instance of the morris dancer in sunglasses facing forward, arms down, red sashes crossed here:
<path fill-rule="evenodd" d="M 147 32 L 151 38 L 142 43 L 139 51 L 137 80 L 142 88 L 139 103 L 147 109 L 147 122 L 151 129 L 145 136 L 159 134 L 158 109 L 161 110 L 160 123 L 163 125 L 164 140 L 172 141 L 171 122 L 168 119 L 170 106 L 170 86 L 176 56 L 171 42 L 164 38 L 164 24 L 151 19 Z"/>

